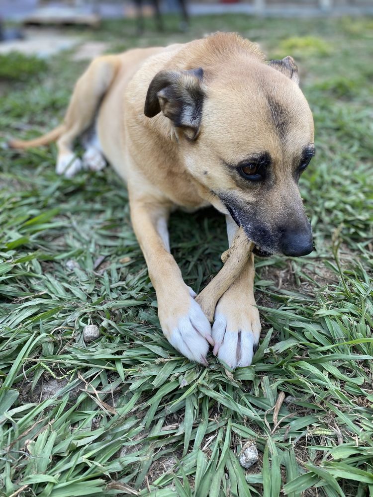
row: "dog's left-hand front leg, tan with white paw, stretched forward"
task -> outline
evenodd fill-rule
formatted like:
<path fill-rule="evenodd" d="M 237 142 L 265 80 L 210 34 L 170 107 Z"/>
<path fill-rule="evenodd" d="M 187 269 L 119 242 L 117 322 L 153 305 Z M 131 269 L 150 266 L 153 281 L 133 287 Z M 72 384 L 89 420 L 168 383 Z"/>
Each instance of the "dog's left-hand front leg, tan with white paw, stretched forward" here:
<path fill-rule="evenodd" d="M 158 300 L 158 317 L 169 342 L 192 361 L 207 365 L 210 324 L 170 253 L 167 220 L 170 207 L 149 197 L 131 195 L 131 220 Z"/>

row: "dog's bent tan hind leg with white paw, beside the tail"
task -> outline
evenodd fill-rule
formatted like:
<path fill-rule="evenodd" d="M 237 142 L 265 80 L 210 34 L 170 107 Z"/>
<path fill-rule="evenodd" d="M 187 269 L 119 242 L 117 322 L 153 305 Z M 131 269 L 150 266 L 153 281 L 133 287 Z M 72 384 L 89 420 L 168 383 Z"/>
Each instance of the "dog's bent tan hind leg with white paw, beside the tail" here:
<path fill-rule="evenodd" d="M 56 172 L 73 176 L 83 163 L 73 152 L 74 140 L 92 124 L 101 99 L 112 83 L 120 59 L 115 55 L 98 57 L 75 85 L 64 124 L 65 131 L 57 141 Z"/>

